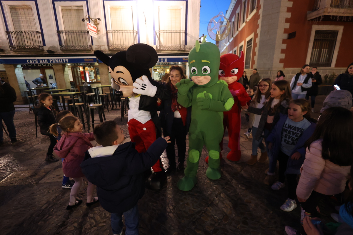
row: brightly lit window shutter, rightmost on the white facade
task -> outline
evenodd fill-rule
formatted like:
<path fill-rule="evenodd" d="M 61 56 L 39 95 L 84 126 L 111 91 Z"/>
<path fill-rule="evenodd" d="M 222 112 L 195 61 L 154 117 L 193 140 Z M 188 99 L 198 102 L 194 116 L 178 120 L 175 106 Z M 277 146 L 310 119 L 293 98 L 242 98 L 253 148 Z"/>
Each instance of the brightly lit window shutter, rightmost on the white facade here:
<path fill-rule="evenodd" d="M 159 7 L 159 30 L 181 31 L 180 7 Z"/>

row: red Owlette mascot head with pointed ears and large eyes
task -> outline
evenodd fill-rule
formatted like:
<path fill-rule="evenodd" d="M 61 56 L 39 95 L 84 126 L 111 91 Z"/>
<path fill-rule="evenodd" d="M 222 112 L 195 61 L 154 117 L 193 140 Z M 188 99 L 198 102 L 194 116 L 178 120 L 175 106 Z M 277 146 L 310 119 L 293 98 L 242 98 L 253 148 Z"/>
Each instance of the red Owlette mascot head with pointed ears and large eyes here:
<path fill-rule="evenodd" d="M 244 53 L 240 51 L 240 57 L 235 54 L 221 56 L 218 79 L 225 80 L 227 84 L 237 82 L 244 72 Z"/>

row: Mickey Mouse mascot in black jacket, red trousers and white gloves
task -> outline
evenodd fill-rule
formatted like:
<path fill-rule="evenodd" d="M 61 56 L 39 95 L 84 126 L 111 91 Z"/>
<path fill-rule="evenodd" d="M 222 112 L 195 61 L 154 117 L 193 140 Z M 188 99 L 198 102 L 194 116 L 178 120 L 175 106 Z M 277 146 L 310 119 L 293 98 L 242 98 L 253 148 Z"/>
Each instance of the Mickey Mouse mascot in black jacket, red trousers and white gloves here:
<path fill-rule="evenodd" d="M 170 98 L 170 93 L 159 82 L 151 78 L 149 68 L 158 61 L 158 54 L 147 44 L 134 44 L 126 51 L 119 51 L 111 58 L 97 50 L 95 56 L 108 65 L 112 76 L 112 87 L 125 97 L 128 107 L 127 125 L 132 142 L 139 153 L 161 137 L 161 125 L 157 115 L 157 98 Z M 161 189 L 167 182 L 167 175 L 159 159 L 147 181 L 147 187 Z"/>

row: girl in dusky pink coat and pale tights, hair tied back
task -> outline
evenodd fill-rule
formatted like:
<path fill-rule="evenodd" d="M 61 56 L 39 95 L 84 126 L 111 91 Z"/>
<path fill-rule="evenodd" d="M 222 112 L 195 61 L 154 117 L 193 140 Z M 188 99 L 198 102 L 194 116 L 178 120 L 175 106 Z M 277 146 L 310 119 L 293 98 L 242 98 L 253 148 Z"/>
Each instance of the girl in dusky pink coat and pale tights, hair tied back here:
<path fill-rule="evenodd" d="M 63 158 L 62 171 L 67 177 L 73 178 L 75 184 L 71 188 L 70 202 L 66 210 L 71 210 L 80 205 L 82 200 L 76 200 L 76 195 L 80 190 L 83 180 L 88 182 L 87 203 L 90 206 L 98 202 L 97 197 L 93 197 L 94 185 L 91 184 L 81 171 L 80 164 L 84 159 L 85 152 L 92 148 L 90 141 L 94 140 L 93 133 L 82 133 L 82 124 L 77 117 L 67 116 L 60 120 L 60 124 L 50 126 L 50 131 L 56 130 L 60 125 L 62 136 L 55 145 L 54 152 L 60 158 Z"/>

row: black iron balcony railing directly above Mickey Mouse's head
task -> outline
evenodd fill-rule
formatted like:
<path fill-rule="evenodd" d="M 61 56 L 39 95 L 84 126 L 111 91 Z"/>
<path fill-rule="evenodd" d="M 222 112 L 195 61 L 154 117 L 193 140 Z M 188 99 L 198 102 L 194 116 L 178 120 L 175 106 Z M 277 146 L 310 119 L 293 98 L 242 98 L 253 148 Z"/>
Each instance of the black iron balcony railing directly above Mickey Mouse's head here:
<path fill-rule="evenodd" d="M 109 50 L 127 49 L 137 43 L 137 31 L 135 30 L 107 30 Z"/>

